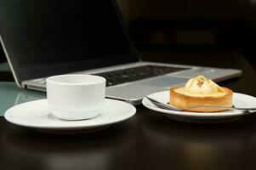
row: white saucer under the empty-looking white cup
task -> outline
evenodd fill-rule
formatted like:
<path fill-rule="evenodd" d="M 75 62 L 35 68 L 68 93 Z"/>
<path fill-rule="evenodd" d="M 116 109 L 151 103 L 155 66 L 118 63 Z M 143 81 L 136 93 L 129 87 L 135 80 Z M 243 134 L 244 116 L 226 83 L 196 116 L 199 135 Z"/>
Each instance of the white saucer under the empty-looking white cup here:
<path fill-rule="evenodd" d="M 54 117 L 48 106 L 47 99 L 39 99 L 14 105 L 5 112 L 7 121 L 23 127 L 32 127 L 48 133 L 80 133 L 91 132 L 122 122 L 134 116 L 136 109 L 133 105 L 114 100 L 105 99 L 100 115 L 82 121 L 63 121 Z"/>

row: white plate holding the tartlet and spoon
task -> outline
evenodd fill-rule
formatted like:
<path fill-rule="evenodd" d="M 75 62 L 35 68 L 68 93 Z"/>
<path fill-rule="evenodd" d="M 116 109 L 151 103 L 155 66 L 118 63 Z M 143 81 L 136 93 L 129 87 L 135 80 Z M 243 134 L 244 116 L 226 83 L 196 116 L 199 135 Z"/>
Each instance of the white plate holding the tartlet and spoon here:
<path fill-rule="evenodd" d="M 169 101 L 169 91 L 158 92 L 156 94 L 149 95 L 152 99 L 156 99 L 163 103 L 168 103 Z M 152 104 L 149 99 L 143 99 L 142 104 L 145 107 L 153 110 L 162 112 L 164 116 L 168 118 L 182 121 L 182 122 L 198 122 L 198 123 L 208 123 L 208 122 L 230 122 L 235 121 L 241 116 L 246 115 L 243 111 L 222 111 L 214 113 L 205 112 L 190 112 L 190 111 L 169 111 L 156 107 Z M 256 107 L 256 98 L 246 94 L 233 94 L 233 105 L 236 107 Z M 252 113 L 252 112 L 251 112 Z"/>

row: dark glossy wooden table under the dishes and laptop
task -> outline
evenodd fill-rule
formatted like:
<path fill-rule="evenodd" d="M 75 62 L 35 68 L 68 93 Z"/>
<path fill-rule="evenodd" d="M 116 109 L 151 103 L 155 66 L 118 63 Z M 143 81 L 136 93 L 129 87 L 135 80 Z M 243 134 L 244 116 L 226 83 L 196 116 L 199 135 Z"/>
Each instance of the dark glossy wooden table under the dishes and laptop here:
<path fill-rule="evenodd" d="M 242 69 L 220 84 L 256 96 L 255 71 L 239 54 L 142 53 L 143 59 Z M 10 79 L 1 74 L 1 79 Z M 0 94 L 1 95 L 1 94 Z M 256 169 L 256 115 L 224 124 L 169 120 L 139 105 L 137 114 L 98 133 L 58 135 L 18 127 L 0 117 L 0 168 Z"/>

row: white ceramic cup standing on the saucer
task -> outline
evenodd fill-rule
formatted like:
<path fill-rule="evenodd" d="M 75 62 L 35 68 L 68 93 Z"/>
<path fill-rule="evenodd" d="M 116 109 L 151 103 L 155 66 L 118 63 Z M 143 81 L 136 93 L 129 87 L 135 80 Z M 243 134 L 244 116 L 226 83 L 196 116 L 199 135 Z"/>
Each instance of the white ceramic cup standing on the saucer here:
<path fill-rule="evenodd" d="M 89 119 L 100 114 L 105 100 L 105 78 L 60 75 L 46 80 L 52 114 L 64 120 Z"/>

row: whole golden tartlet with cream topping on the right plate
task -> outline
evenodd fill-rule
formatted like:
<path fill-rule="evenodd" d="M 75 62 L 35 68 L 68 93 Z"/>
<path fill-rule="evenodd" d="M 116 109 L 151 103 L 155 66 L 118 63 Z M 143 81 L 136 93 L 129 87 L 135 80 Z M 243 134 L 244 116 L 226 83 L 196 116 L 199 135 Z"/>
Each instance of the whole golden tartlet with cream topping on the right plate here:
<path fill-rule="evenodd" d="M 198 76 L 186 82 L 185 87 L 170 89 L 170 104 L 185 111 L 216 112 L 226 109 L 212 107 L 188 108 L 192 105 L 232 106 L 233 92 L 206 77 Z"/>

